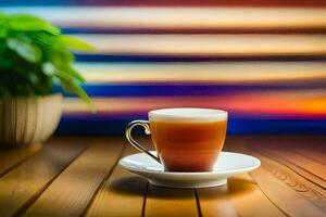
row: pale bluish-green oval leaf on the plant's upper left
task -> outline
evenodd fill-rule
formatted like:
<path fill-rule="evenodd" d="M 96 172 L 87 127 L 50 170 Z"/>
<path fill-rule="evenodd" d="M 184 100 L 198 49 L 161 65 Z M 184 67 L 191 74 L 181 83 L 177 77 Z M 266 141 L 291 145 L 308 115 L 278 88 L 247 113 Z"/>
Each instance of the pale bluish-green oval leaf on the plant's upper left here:
<path fill-rule="evenodd" d="M 37 63 L 41 59 L 41 51 L 36 46 L 26 43 L 25 41 L 17 38 L 9 38 L 7 40 L 8 48 L 15 51 L 24 60 Z"/>

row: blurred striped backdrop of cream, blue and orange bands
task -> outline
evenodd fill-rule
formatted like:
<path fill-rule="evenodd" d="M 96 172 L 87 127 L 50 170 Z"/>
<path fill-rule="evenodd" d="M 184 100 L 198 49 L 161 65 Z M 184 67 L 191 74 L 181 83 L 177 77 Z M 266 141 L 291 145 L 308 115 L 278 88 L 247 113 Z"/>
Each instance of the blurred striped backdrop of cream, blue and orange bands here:
<path fill-rule="evenodd" d="M 98 113 L 65 94 L 58 135 L 122 135 L 154 108 L 229 112 L 228 133 L 326 133 L 325 0 L 0 0 L 96 47 Z"/>

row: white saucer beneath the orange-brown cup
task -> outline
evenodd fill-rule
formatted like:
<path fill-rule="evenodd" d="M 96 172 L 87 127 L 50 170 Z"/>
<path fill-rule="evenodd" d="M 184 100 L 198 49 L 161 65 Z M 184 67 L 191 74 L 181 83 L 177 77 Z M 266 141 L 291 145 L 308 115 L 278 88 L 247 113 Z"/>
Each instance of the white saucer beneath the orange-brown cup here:
<path fill-rule="evenodd" d="M 156 152 L 151 152 L 156 155 Z M 149 182 L 171 188 L 208 188 L 226 183 L 228 177 L 258 168 L 261 161 L 246 154 L 221 152 L 213 171 L 173 173 L 143 153 L 122 158 L 118 164 L 127 170 L 148 178 Z"/>

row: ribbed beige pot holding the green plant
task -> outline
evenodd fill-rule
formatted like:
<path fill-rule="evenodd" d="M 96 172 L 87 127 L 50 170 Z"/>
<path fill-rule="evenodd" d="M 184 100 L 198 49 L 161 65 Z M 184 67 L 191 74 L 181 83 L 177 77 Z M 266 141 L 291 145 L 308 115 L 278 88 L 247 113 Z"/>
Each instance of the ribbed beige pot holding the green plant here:
<path fill-rule="evenodd" d="M 62 94 L 0 100 L 0 148 L 22 148 L 47 140 L 62 115 Z"/>

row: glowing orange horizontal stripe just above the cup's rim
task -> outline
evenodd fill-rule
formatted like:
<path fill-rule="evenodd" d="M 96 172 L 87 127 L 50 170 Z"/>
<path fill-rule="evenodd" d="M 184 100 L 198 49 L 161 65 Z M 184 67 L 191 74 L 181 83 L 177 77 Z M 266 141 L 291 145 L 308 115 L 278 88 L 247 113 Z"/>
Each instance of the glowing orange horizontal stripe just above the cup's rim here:
<path fill-rule="evenodd" d="M 215 107 L 242 116 L 255 117 L 326 117 L 326 90 L 243 92 L 216 97 L 143 97 L 95 98 L 98 114 L 146 114 L 162 107 Z M 66 99 L 67 115 L 91 115 L 79 99 Z"/>

